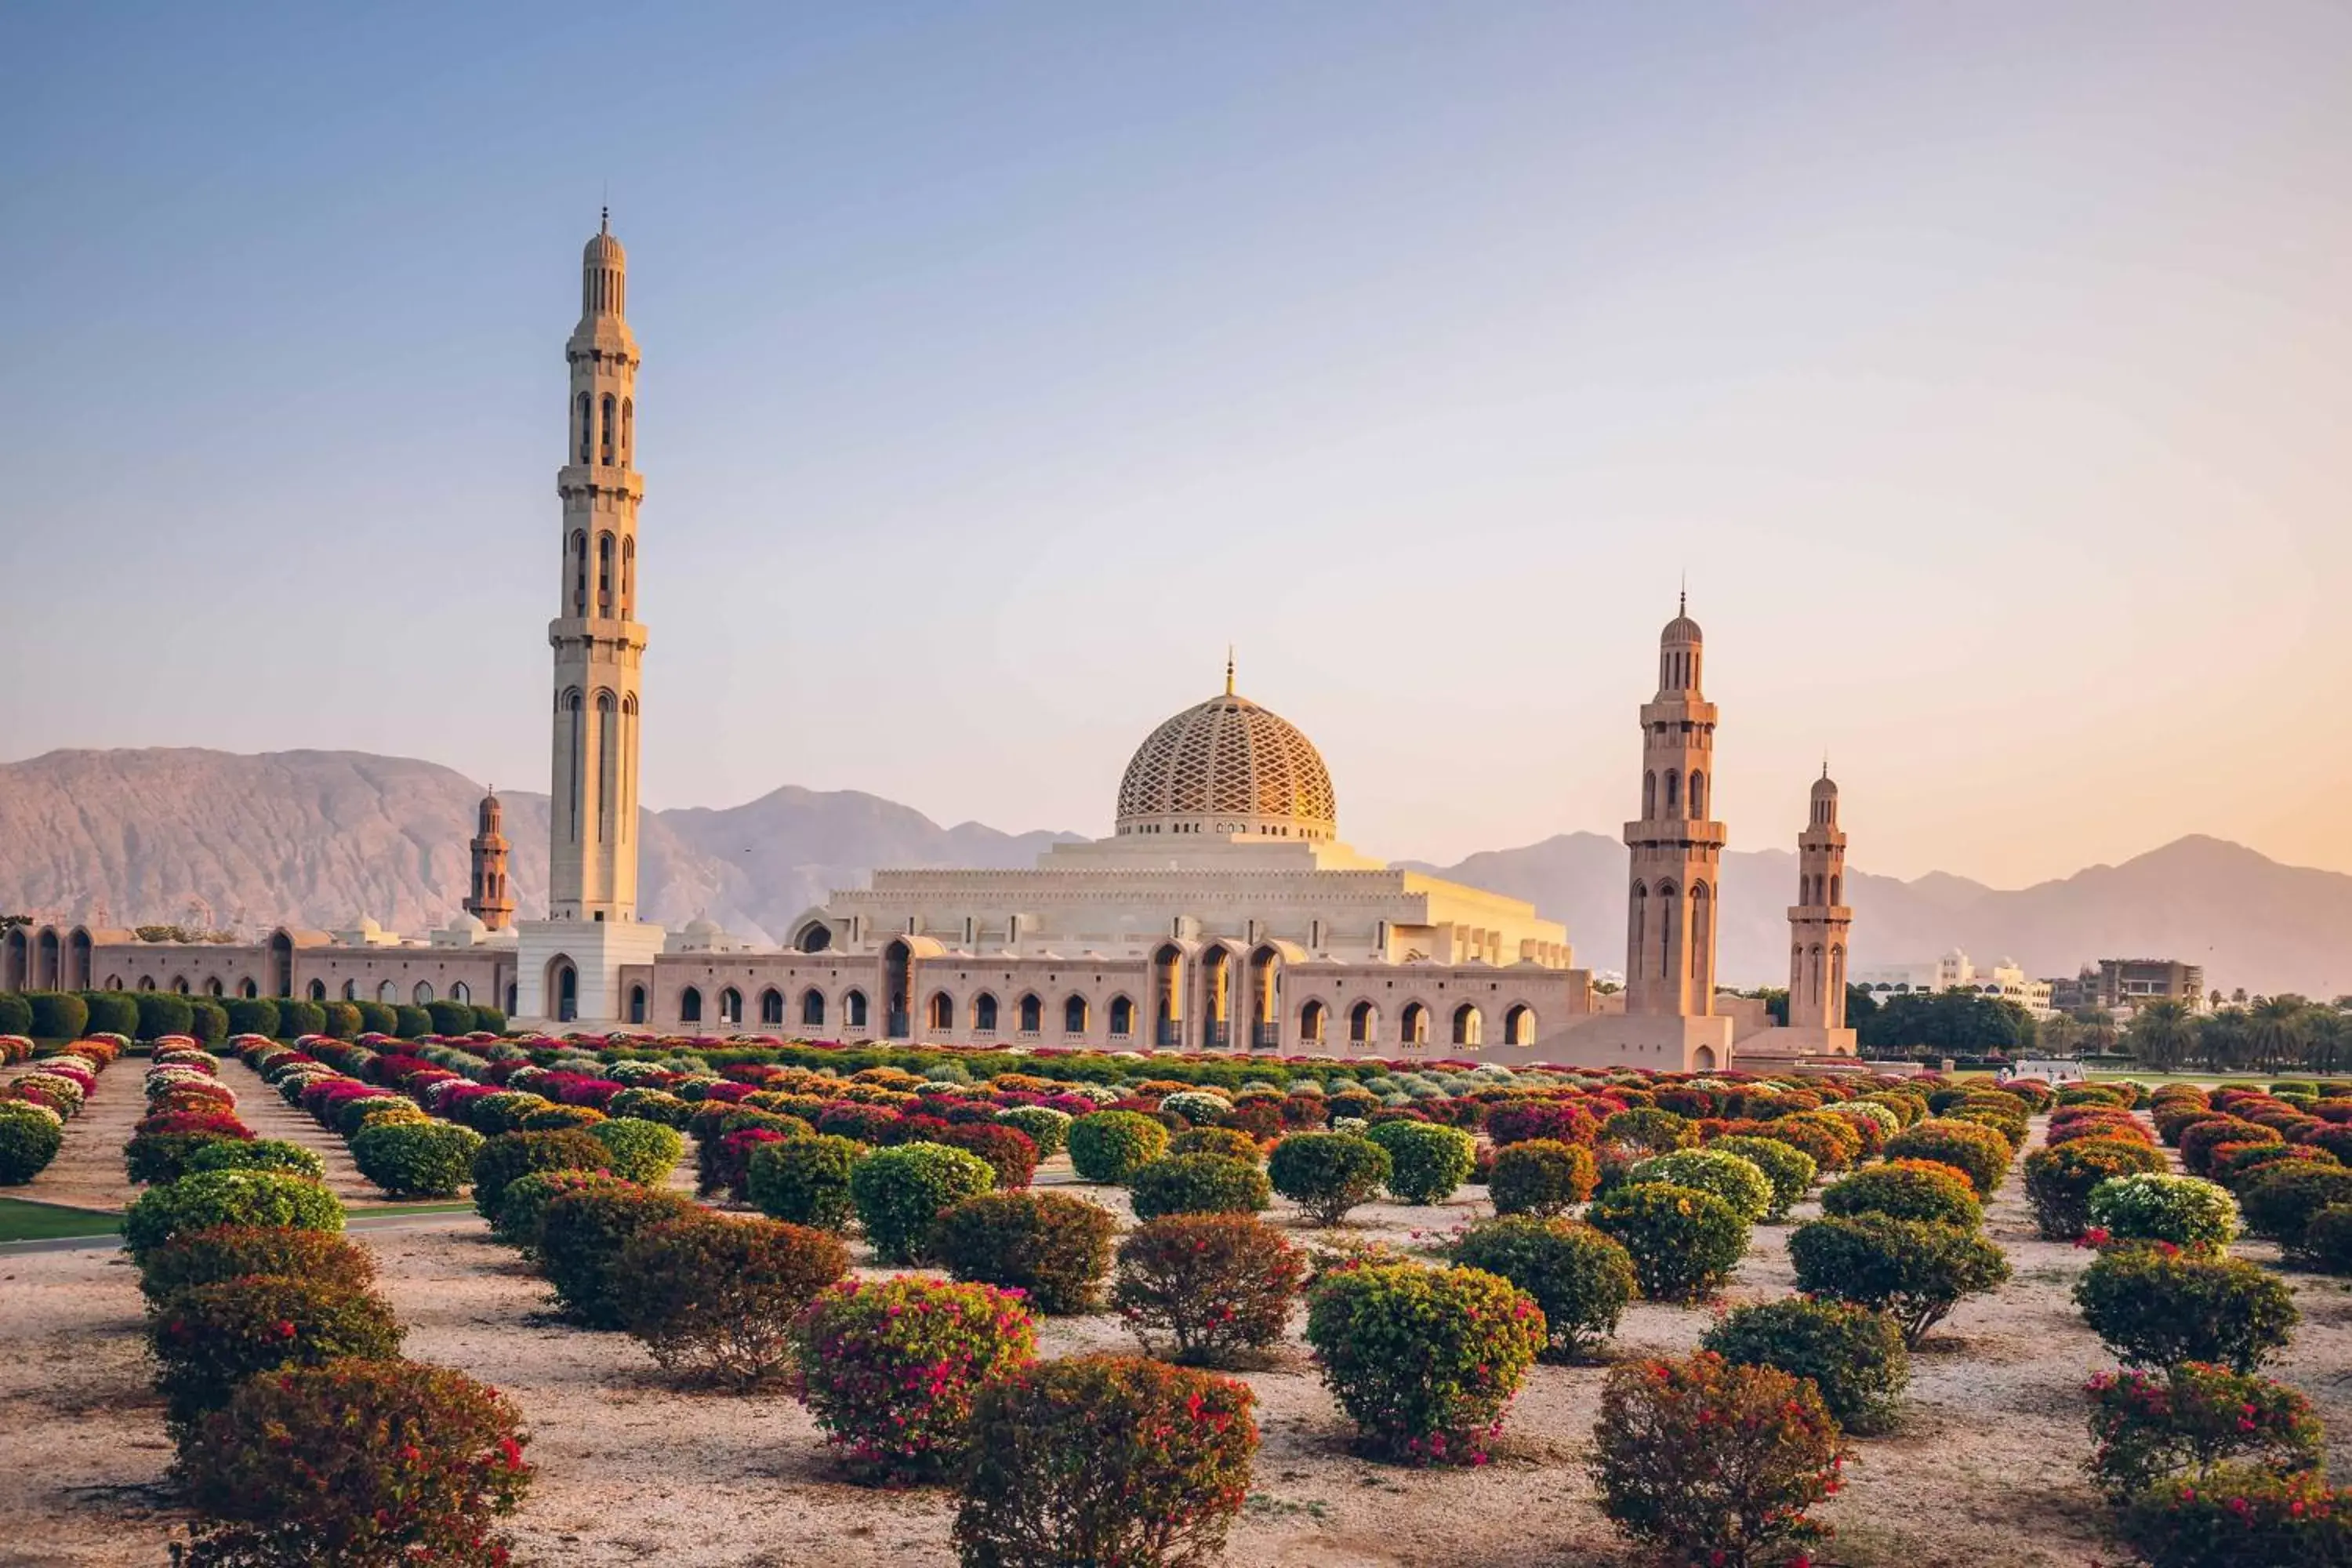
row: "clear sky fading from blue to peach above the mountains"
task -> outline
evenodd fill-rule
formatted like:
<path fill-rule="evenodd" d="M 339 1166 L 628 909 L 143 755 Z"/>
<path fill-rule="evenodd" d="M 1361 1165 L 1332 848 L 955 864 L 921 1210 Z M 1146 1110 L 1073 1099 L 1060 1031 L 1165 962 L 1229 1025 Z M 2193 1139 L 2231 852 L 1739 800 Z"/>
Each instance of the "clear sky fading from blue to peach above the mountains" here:
<path fill-rule="evenodd" d="M 1242 691 L 1343 837 L 1719 811 L 2352 870 L 2352 7 L 0 9 L 0 757 L 546 788 L 609 193 L 644 797 L 1108 832 Z"/>

